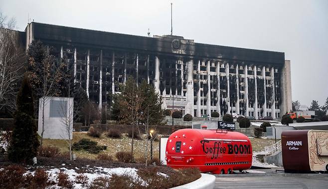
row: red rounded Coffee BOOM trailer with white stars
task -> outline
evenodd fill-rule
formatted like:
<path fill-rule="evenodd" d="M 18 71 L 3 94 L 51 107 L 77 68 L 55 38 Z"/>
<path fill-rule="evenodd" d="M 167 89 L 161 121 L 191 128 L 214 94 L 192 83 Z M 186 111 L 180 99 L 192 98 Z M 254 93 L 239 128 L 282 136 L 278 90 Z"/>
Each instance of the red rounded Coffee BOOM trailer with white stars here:
<path fill-rule="evenodd" d="M 165 160 L 172 168 L 198 168 L 202 173 L 231 174 L 252 166 L 252 145 L 242 133 L 181 129 L 166 143 Z"/>

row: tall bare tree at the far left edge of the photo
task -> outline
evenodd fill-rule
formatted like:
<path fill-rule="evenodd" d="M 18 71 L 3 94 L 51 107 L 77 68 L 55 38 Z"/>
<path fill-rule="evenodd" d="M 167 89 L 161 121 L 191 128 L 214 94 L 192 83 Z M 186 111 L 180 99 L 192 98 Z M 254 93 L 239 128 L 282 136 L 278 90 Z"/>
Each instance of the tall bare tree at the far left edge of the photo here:
<path fill-rule="evenodd" d="M 15 110 L 17 83 L 24 73 L 25 51 L 19 46 L 16 21 L 0 12 L 0 109 Z"/>

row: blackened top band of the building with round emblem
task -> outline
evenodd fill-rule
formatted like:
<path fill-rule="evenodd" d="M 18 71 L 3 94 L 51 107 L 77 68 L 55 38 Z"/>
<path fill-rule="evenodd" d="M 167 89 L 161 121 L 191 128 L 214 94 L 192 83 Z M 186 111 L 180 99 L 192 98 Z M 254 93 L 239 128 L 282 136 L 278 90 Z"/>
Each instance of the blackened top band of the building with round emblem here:
<path fill-rule="evenodd" d="M 124 51 L 147 52 L 156 55 L 173 54 L 199 59 L 222 59 L 238 63 L 283 65 L 285 62 L 284 52 L 195 43 L 193 40 L 183 39 L 181 36 L 146 37 L 37 22 L 30 24 L 32 24 L 34 39 L 54 44 L 122 49 Z"/>

